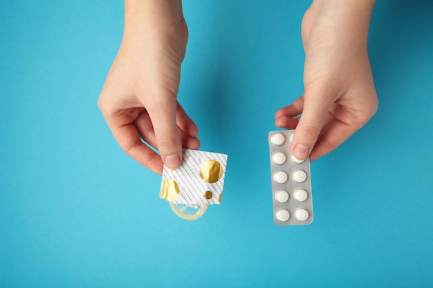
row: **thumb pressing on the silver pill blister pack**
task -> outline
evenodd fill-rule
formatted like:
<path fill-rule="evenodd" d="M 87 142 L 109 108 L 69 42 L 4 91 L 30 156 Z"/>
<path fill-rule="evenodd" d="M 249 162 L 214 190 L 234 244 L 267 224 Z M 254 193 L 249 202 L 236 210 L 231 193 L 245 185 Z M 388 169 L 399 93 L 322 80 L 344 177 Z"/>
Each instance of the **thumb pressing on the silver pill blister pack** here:
<path fill-rule="evenodd" d="M 296 126 L 292 141 L 292 153 L 295 158 L 304 160 L 310 155 L 317 138 L 322 131 L 329 104 L 324 101 L 323 93 L 306 90 L 304 93 L 304 109 Z"/>

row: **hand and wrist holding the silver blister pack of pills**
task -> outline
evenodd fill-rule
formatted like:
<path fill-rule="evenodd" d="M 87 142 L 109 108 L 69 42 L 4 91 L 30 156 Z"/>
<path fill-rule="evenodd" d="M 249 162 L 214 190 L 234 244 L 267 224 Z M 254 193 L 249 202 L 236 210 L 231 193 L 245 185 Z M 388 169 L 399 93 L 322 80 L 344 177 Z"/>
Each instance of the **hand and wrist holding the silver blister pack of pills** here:
<path fill-rule="evenodd" d="M 373 0 L 315 0 L 304 15 L 304 95 L 275 113 L 276 126 L 296 128 L 292 152 L 300 160 L 329 153 L 376 113 L 367 54 L 373 6 Z"/>

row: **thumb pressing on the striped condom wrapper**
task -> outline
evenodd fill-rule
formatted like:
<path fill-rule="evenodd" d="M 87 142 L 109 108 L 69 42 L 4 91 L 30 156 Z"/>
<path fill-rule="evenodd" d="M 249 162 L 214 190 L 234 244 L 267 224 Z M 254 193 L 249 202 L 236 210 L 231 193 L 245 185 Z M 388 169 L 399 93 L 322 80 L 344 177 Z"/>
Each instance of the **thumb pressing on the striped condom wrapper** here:
<path fill-rule="evenodd" d="M 169 169 L 176 169 L 182 162 L 182 144 L 176 122 L 176 97 L 161 97 L 156 106 L 148 109 L 154 126 L 156 148 Z"/>

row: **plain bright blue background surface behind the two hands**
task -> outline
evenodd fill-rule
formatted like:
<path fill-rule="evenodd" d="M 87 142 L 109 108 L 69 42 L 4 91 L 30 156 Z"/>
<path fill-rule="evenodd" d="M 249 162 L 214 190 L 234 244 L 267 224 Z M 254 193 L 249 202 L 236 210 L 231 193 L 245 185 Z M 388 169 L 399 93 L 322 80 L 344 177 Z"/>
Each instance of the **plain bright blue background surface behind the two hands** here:
<path fill-rule="evenodd" d="M 229 155 L 221 206 L 187 222 L 97 108 L 122 1 L 2 0 L 0 287 L 433 287 L 431 1 L 378 1 L 378 113 L 311 165 L 313 224 L 273 223 L 267 135 L 303 92 L 309 4 L 184 1 L 178 99 Z"/>

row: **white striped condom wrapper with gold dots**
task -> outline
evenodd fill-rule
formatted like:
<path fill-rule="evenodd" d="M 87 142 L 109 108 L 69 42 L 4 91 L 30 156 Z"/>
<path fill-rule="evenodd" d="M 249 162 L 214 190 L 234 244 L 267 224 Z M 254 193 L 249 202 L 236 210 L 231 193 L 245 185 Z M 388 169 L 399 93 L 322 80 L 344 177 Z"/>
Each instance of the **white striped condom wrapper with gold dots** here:
<path fill-rule="evenodd" d="M 172 204 L 221 204 L 227 155 L 183 149 L 181 166 L 163 169 L 159 197 Z"/>

